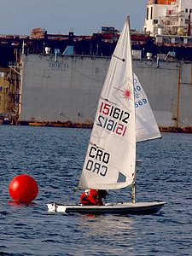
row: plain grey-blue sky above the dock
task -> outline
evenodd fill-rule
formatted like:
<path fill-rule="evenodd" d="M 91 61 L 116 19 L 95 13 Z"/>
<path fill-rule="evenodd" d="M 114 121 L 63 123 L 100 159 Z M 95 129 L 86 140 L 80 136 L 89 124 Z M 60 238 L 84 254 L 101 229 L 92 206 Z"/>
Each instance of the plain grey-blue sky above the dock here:
<path fill-rule="evenodd" d="M 30 35 L 42 27 L 49 34 L 92 35 L 102 26 L 121 31 L 130 15 L 131 29 L 142 31 L 149 0 L 0 0 L 0 34 Z"/>

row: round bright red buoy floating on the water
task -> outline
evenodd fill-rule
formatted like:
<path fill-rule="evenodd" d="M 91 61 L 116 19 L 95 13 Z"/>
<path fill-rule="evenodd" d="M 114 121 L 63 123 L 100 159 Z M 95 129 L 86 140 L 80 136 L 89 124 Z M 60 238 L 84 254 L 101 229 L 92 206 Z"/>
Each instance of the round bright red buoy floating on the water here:
<path fill-rule="evenodd" d="M 38 195 L 38 183 L 29 175 L 19 175 L 10 182 L 9 194 L 15 201 L 31 202 Z"/>

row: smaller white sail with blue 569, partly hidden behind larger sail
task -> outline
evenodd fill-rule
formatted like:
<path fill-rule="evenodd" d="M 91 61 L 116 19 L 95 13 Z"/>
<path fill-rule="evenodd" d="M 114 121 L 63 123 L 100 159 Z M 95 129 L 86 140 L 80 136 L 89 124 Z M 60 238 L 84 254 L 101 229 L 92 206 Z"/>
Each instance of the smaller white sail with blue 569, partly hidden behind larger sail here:
<path fill-rule="evenodd" d="M 160 138 L 160 130 L 149 105 L 148 98 L 134 73 L 134 91 L 136 107 L 136 141 L 142 142 Z"/>

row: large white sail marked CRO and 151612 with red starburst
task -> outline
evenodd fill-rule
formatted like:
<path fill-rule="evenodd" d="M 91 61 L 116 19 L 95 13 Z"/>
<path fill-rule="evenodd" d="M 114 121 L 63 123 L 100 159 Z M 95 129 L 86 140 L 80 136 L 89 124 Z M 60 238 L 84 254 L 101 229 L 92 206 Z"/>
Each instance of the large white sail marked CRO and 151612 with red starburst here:
<path fill-rule="evenodd" d="M 102 88 L 79 189 L 119 189 L 135 178 L 136 125 L 129 16 Z"/>

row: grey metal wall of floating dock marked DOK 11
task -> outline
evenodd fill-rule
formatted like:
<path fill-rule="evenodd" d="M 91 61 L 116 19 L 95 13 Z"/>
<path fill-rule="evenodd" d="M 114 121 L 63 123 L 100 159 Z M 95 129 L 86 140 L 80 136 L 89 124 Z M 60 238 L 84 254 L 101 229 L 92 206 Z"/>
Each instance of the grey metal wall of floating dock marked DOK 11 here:
<path fill-rule="evenodd" d="M 20 121 L 91 124 L 109 57 L 22 55 Z M 192 125 L 192 63 L 134 59 L 159 126 Z"/>

